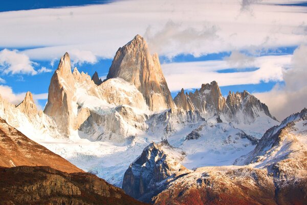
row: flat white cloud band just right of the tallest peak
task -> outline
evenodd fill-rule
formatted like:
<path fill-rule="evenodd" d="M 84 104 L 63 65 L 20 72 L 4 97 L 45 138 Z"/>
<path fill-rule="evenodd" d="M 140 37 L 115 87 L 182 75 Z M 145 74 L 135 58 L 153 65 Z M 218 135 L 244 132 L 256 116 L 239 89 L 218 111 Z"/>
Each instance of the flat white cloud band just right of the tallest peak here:
<path fill-rule="evenodd" d="M 219 86 L 259 84 L 262 81 L 282 81 L 282 70 L 289 67 L 291 56 L 255 57 L 253 64 L 259 69 L 251 72 L 216 72 L 229 68 L 227 60 L 162 64 L 162 69 L 171 91 L 199 88 L 213 80 L 216 80 Z"/>

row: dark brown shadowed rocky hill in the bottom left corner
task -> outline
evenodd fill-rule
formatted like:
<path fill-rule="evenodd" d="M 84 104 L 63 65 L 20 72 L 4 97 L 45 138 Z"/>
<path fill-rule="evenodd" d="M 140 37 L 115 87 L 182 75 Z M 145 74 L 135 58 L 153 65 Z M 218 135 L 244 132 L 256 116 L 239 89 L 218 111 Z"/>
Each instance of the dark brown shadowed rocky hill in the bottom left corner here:
<path fill-rule="evenodd" d="M 0 168 L 1 204 L 143 204 L 90 173 L 50 167 Z"/>

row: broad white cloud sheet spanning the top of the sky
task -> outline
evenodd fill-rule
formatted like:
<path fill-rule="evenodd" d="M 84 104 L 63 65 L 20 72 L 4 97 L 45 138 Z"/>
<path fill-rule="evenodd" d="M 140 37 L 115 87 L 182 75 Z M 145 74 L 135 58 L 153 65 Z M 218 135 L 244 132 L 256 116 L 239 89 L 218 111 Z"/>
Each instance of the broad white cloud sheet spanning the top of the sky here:
<path fill-rule="evenodd" d="M 118 47 L 136 34 L 145 34 L 152 50 L 168 56 L 261 50 L 306 42 L 305 33 L 296 32 L 304 31 L 306 7 L 274 5 L 285 3 L 283 0 L 251 4 L 254 2 L 131 0 L 2 12 L 0 28 L 5 28 L 5 32 L 0 33 L 0 45 L 39 47 L 24 53 L 32 60 L 51 60 L 74 49 L 112 58 Z M 242 8 L 251 7 L 252 15 L 241 12 Z M 90 62 L 95 61 L 93 55 Z"/>

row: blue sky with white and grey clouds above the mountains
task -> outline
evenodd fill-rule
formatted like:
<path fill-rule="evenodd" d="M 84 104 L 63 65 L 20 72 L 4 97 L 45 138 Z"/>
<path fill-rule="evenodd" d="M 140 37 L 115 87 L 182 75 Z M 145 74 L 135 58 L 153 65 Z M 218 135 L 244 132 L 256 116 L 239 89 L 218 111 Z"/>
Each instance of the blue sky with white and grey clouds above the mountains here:
<path fill-rule="evenodd" d="M 285 0 L 1 1 L 0 94 L 31 91 L 40 109 L 51 76 L 72 66 L 101 78 L 136 34 L 158 53 L 172 96 L 216 80 L 247 90 L 282 120 L 307 107 L 307 2 Z"/>

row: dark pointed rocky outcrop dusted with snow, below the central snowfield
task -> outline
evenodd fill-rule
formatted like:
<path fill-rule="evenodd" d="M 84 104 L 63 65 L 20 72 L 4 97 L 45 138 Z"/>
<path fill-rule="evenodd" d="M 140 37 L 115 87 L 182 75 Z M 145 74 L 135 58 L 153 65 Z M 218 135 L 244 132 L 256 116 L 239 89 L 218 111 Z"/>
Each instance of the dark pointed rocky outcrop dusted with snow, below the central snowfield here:
<path fill-rule="evenodd" d="M 122 189 L 134 198 L 150 202 L 167 179 L 189 172 L 178 162 L 183 158 L 184 153 L 172 148 L 167 140 L 152 142 L 125 172 Z"/>

